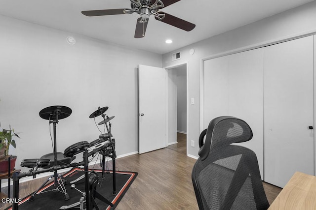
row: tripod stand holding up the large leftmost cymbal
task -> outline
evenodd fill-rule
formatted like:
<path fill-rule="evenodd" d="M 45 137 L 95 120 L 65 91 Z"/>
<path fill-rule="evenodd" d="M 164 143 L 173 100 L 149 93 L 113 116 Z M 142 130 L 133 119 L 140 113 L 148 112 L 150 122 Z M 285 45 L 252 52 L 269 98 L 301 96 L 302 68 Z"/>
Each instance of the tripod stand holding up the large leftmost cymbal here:
<path fill-rule="evenodd" d="M 58 115 L 60 114 L 60 110 L 56 109 L 53 111 L 53 115 L 56 116 L 55 120 L 49 120 L 49 123 L 53 123 L 53 132 L 54 132 L 54 166 L 57 166 L 57 141 L 56 141 L 56 124 L 58 123 Z M 38 190 L 36 190 L 32 196 L 29 198 L 28 202 L 31 202 L 35 199 L 35 195 L 40 191 L 40 189 L 52 178 L 54 177 L 54 188 L 51 190 L 47 190 L 47 191 L 42 191 L 40 193 L 45 193 L 45 192 L 49 192 L 49 191 L 53 191 L 53 192 L 61 192 L 65 194 L 65 200 L 69 200 L 70 196 L 66 191 L 66 187 L 64 185 L 64 182 L 66 182 L 66 180 L 64 180 L 64 178 L 59 175 L 57 173 L 57 169 L 54 169 L 54 174 L 52 176 L 50 176 L 41 186 Z M 39 194 L 40 194 L 39 193 Z"/>

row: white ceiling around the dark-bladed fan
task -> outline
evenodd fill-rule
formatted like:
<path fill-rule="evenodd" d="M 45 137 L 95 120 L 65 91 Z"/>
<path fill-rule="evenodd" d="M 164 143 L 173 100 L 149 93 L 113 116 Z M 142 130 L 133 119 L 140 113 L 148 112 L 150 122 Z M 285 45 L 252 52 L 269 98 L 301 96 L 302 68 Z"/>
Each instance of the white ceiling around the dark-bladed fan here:
<path fill-rule="evenodd" d="M 129 0 L 0 0 L 0 14 L 83 34 L 119 45 L 164 54 L 313 0 L 181 0 L 161 9 L 196 24 L 184 31 L 150 17 L 146 36 L 134 38 L 139 15 L 87 17 L 82 10 L 130 8 Z M 172 44 L 166 44 L 172 39 Z"/>

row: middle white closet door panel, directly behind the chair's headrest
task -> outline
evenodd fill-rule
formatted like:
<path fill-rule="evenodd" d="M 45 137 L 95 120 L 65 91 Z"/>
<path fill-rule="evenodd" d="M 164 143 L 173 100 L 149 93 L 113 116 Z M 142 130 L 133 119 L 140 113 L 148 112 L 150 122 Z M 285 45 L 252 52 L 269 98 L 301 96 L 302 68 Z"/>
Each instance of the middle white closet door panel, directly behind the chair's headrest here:
<path fill-rule="evenodd" d="M 245 120 L 253 138 L 241 145 L 253 150 L 263 179 L 263 48 L 229 56 L 229 115 Z"/>

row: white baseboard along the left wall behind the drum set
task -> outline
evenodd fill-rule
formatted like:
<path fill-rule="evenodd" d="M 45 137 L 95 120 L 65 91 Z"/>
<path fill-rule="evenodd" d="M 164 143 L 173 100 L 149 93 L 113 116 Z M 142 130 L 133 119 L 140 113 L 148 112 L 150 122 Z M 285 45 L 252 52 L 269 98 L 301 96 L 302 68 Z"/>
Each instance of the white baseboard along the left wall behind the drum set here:
<path fill-rule="evenodd" d="M 133 155 L 133 154 L 138 154 L 138 151 L 133 151 L 133 152 L 130 152 L 130 153 L 118 155 L 116 159 L 121 158 L 121 157 L 126 157 L 126 156 L 129 156 L 129 155 Z M 109 158 L 108 161 L 112 161 L 112 158 Z M 89 166 L 92 166 L 94 164 L 99 164 L 99 163 L 100 163 L 100 160 L 89 162 Z M 69 168 L 65 168 L 65 169 L 58 170 L 57 172 L 58 172 L 58 174 L 62 174 L 62 173 L 68 172 L 68 171 L 69 171 Z M 51 175 L 53 175 L 53 172 L 45 172 L 45 173 L 42 173 L 42 174 L 37 174 L 35 179 L 40 179 L 40 178 L 43 178 L 43 177 L 49 177 Z M 33 179 L 32 176 L 30 176 L 30 177 L 23 177 L 23 178 L 21 178 L 19 180 L 19 183 L 30 181 L 30 180 L 35 180 L 35 179 Z M 10 185 L 13 185 L 13 181 L 12 180 L 10 181 Z M 8 186 L 7 182 L 3 182 L 3 183 L 1 182 L 1 188 L 2 187 L 7 187 L 7 186 Z"/>

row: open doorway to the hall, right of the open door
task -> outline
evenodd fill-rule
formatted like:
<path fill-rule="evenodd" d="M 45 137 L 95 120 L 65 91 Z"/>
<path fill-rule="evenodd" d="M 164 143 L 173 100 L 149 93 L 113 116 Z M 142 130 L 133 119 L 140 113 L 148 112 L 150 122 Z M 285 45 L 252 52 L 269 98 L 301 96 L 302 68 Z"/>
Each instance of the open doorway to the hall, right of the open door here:
<path fill-rule="evenodd" d="M 168 149 L 187 155 L 187 63 L 167 67 Z"/>

